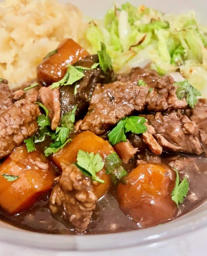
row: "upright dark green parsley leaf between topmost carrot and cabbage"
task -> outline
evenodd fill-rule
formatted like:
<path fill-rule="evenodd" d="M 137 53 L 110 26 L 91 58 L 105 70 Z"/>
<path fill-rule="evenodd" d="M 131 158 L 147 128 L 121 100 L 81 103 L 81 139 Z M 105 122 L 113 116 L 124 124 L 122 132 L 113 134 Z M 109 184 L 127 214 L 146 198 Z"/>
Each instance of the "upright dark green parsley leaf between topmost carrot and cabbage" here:
<path fill-rule="evenodd" d="M 101 50 L 97 52 L 99 57 L 99 64 L 104 73 L 112 70 L 111 58 L 106 53 L 106 45 L 101 42 Z"/>

